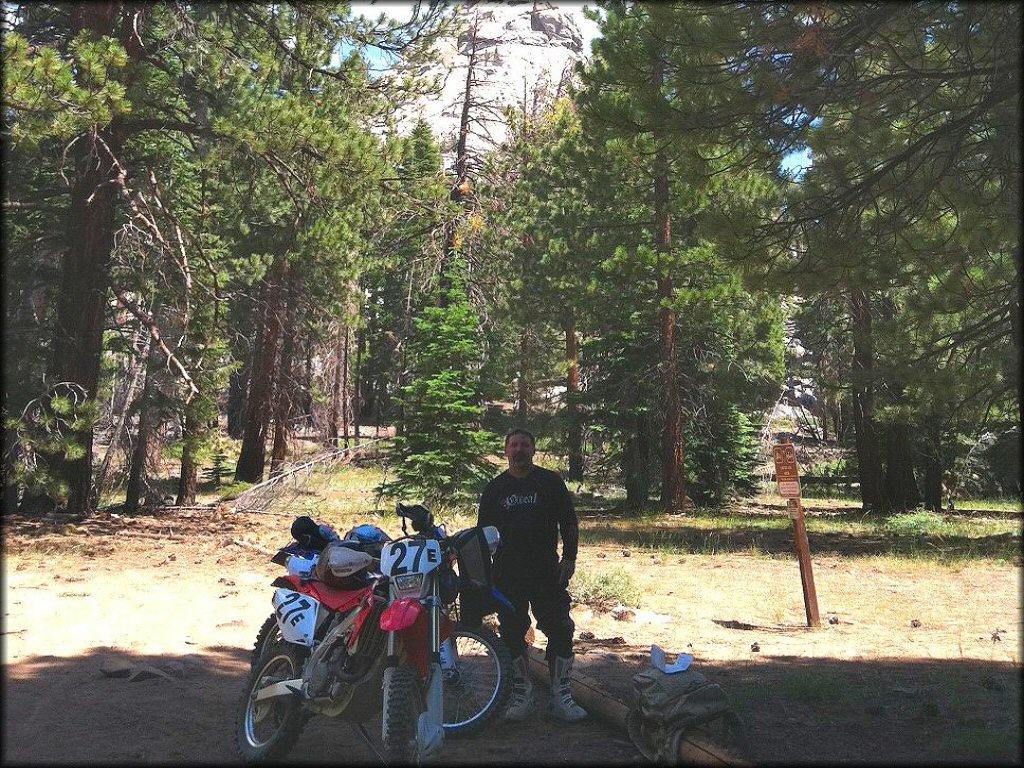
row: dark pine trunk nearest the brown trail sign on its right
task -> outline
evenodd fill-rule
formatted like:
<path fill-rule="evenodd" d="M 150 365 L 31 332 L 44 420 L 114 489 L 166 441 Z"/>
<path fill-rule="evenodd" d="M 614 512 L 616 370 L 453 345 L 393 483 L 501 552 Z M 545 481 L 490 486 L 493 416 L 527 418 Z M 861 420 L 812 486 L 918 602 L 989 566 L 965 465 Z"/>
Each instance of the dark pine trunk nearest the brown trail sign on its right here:
<path fill-rule="evenodd" d="M 863 291 L 850 292 L 853 321 L 853 429 L 860 474 L 860 499 L 864 509 L 888 511 L 883 487 L 882 458 L 874 425 L 874 344 L 871 309 Z"/>

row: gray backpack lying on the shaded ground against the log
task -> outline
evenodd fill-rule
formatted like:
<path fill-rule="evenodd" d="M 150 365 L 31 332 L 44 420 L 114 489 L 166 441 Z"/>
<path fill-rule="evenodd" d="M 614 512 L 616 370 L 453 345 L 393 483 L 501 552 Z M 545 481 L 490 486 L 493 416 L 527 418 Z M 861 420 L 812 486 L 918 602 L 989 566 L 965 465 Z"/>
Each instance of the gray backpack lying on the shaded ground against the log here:
<path fill-rule="evenodd" d="M 717 683 L 690 668 L 668 675 L 649 668 L 633 676 L 636 702 L 627 725 L 637 749 L 656 763 L 675 765 L 687 731 L 722 719 L 732 745 L 745 746 L 742 722 Z"/>

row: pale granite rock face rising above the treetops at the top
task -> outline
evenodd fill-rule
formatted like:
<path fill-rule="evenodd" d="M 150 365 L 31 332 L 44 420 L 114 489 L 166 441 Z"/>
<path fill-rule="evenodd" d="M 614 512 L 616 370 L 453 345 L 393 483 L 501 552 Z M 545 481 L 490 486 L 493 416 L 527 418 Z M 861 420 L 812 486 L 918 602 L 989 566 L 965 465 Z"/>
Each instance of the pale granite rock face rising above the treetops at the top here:
<path fill-rule="evenodd" d="M 466 89 L 467 69 L 475 47 L 467 140 L 479 156 L 502 143 L 507 134 L 504 109 L 539 109 L 564 93 L 577 62 L 583 61 L 583 35 L 572 14 L 551 3 L 474 3 L 460 7 L 460 32 L 437 44 L 439 61 L 420 75 L 439 76 L 439 96 L 401 113 L 408 128 L 425 120 L 440 140 L 446 167 L 454 163 Z M 475 26 L 475 35 L 472 29 Z"/>

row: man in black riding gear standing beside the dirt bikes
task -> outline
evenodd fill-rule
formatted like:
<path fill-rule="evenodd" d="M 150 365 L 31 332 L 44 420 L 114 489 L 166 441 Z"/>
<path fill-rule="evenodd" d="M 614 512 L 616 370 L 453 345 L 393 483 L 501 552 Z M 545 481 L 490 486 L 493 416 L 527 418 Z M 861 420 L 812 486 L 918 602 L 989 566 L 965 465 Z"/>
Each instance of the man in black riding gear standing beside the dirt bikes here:
<path fill-rule="evenodd" d="M 534 686 L 526 667 L 527 606 L 537 628 L 548 638 L 551 674 L 549 713 L 560 720 L 582 720 L 587 713 L 572 700 L 572 632 L 569 593 L 575 571 L 579 526 L 572 498 L 562 478 L 534 464 L 537 445 L 525 429 L 505 436 L 509 468 L 483 489 L 477 524 L 494 525 L 501 534 L 495 553 L 495 584 L 514 610 L 499 607 L 502 640 L 512 651 L 512 698 L 507 720 L 523 720 L 534 711 Z M 561 534 L 562 557 L 558 559 Z"/>

